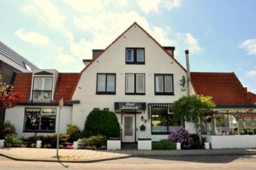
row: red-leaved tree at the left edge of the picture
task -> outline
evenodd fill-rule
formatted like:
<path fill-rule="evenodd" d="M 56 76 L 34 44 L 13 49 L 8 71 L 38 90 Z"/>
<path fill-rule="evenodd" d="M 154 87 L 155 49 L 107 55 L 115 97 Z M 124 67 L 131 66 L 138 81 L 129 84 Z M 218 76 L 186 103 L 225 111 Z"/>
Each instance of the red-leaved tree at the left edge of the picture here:
<path fill-rule="evenodd" d="M 23 98 L 22 93 L 13 92 L 13 88 L 12 85 L 3 83 L 3 77 L 0 74 L 0 109 L 12 108 Z"/>

